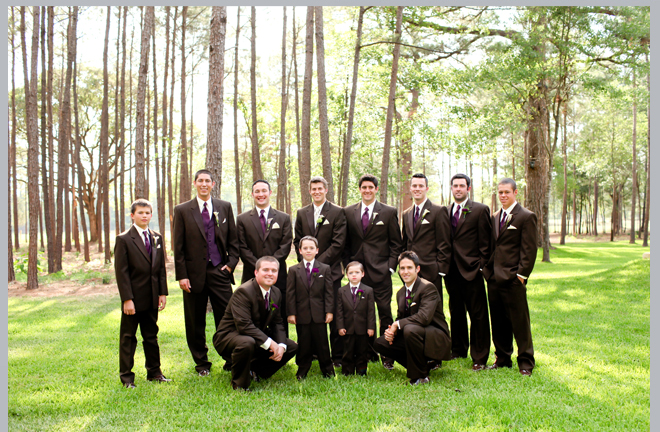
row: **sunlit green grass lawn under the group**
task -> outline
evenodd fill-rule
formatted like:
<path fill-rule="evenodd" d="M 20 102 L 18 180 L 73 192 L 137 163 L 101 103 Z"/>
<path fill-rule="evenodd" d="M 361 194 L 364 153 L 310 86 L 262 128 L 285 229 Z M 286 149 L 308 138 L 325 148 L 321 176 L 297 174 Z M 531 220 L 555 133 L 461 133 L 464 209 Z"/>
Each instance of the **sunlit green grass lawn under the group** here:
<path fill-rule="evenodd" d="M 137 389 L 126 390 L 118 372 L 117 295 L 12 297 L 9 429 L 649 430 L 650 262 L 640 259 L 648 250 L 626 242 L 573 243 L 552 252 L 553 264 L 541 263 L 539 253 L 527 293 L 534 375 L 522 377 L 515 366 L 474 373 L 470 359 L 460 359 L 443 363 L 422 387 L 406 386 L 400 365 L 389 372 L 375 363 L 367 378 L 330 380 L 315 363 L 299 383 L 292 361 L 253 383 L 252 393 L 234 392 L 211 345 L 213 370 L 200 378 L 185 341 L 181 292 L 169 275 L 159 342 L 163 371 L 173 382 L 145 380 L 139 343 Z M 213 318 L 207 318 L 210 343 Z"/>

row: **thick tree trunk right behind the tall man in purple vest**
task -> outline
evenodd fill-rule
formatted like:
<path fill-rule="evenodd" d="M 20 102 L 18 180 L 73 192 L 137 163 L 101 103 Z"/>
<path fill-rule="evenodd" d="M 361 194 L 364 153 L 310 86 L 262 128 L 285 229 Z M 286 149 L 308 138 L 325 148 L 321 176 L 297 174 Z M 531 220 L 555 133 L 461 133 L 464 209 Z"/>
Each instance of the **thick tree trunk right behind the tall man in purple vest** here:
<path fill-rule="evenodd" d="M 220 198 L 222 190 L 222 126 L 225 74 L 225 36 L 227 7 L 213 6 L 209 44 L 209 94 L 206 117 L 206 168 L 213 173 L 215 187 L 212 194 Z"/>

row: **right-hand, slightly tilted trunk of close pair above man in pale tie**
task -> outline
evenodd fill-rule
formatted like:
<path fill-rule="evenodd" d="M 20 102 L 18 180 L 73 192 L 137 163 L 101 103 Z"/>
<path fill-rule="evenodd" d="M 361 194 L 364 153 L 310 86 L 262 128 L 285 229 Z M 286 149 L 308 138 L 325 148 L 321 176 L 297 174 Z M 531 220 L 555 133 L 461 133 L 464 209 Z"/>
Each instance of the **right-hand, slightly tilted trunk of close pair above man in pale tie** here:
<path fill-rule="evenodd" d="M 332 158 L 330 156 L 330 132 L 328 130 L 328 96 L 325 85 L 325 43 L 323 41 L 323 6 L 314 8 L 316 26 L 316 76 L 318 78 L 319 130 L 321 137 L 321 160 L 323 177 L 328 182 L 328 199 L 335 200 L 332 183 Z"/>

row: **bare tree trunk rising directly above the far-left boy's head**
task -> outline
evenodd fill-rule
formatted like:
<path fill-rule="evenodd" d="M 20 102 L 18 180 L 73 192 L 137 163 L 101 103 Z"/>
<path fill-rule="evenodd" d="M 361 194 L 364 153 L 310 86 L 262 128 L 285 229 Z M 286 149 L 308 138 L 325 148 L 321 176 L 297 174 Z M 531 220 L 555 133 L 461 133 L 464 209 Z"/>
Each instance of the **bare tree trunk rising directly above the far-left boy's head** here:
<path fill-rule="evenodd" d="M 146 6 L 144 24 L 142 26 L 135 122 L 135 198 L 146 198 L 148 196 L 144 176 L 144 123 L 146 115 L 144 98 L 147 92 L 147 74 L 149 72 L 149 47 L 151 45 L 149 39 L 151 38 L 153 26 L 154 7 Z"/>

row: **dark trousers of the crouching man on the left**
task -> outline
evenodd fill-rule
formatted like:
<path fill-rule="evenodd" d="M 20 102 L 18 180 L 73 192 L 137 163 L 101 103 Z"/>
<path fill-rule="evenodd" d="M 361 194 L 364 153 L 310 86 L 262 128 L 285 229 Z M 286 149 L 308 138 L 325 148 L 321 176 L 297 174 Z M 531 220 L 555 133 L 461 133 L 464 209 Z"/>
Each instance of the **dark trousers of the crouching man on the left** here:
<path fill-rule="evenodd" d="M 233 333 L 233 337 L 225 346 L 224 351 L 218 352 L 223 358 L 231 358 L 231 383 L 233 386 L 248 388 L 252 377 L 250 371 L 259 378 L 270 378 L 296 355 L 298 345 L 291 339 L 286 339 L 286 352 L 278 362 L 269 359 L 273 353 L 257 345 L 254 338 Z"/>

